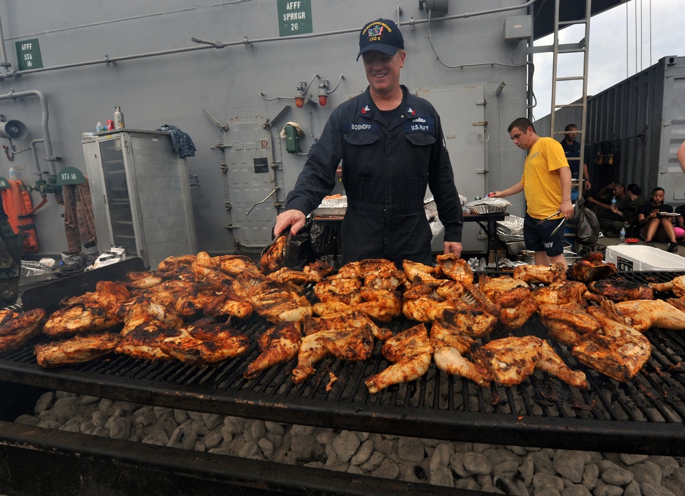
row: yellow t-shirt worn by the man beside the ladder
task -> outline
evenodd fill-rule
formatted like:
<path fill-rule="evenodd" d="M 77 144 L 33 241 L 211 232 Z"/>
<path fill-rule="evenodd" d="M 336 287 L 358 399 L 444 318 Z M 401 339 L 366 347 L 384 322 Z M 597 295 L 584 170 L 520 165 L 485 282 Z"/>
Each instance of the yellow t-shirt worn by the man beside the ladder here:
<path fill-rule="evenodd" d="M 523 194 L 526 212 L 533 219 L 545 219 L 559 210 L 562 200 L 558 169 L 568 167 L 564 149 L 557 140 L 540 138 L 530 149 L 523 164 Z M 560 219 L 561 214 L 556 216 Z"/>

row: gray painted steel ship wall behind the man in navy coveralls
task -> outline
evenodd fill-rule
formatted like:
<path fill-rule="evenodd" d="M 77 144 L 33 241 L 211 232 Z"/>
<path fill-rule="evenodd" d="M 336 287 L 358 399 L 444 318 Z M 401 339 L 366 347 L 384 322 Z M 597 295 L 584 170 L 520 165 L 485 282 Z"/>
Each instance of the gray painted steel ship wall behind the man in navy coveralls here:
<path fill-rule="evenodd" d="M 227 253 L 236 249 L 236 236 L 226 226 L 232 223 L 231 212 L 225 208 L 229 197 L 222 164 L 227 154 L 221 145 L 232 144 L 234 135 L 240 142 L 259 142 L 264 136 L 271 142 L 264 153 L 269 164 L 275 164 L 275 181 L 282 189 L 267 200 L 263 207 L 277 209 L 273 201 L 282 203 L 301 171 L 306 151 L 323 129 L 332 109 L 346 98 L 366 88 L 361 62 L 356 62 L 358 29 L 373 18 L 393 18 L 408 23 L 412 18 L 425 21 L 427 12 L 419 9 L 416 0 L 369 3 L 362 0 L 345 2 L 312 1 L 311 22 L 314 34 L 353 29 L 353 32 L 308 39 L 279 38 L 277 2 L 251 0 L 217 3 L 198 0 L 118 0 L 103 5 L 100 12 L 92 2 L 73 0 L 64 3 L 42 0 L 8 1 L 0 4 L 0 19 L 10 69 L 17 69 L 15 42 L 35 40 L 40 43 L 42 65 L 45 68 L 73 65 L 69 68 L 25 73 L 22 77 L 5 77 L 0 82 L 0 95 L 8 92 L 36 90 L 42 92 L 49 107 L 49 134 L 59 172 L 64 166 L 85 171 L 82 133 L 95 131 L 97 121 L 113 119 L 114 106 L 121 106 L 125 125 L 130 129 L 157 129 L 175 125 L 187 132 L 197 151 L 188 158 L 188 171 L 197 175 L 199 186 L 192 187 L 192 207 L 195 216 L 198 249 L 210 253 Z M 515 7 L 523 1 L 499 1 L 484 5 L 479 0 L 450 1 L 448 15 L 478 12 L 484 8 Z M 401 12 L 399 12 L 401 11 Z M 482 101 L 473 105 L 482 108 L 486 129 L 473 125 L 451 105 L 449 97 L 440 97 L 436 107 L 443 119 L 456 184 L 460 194 L 469 199 L 487 190 L 506 188 L 520 178 L 524 153 L 510 142 L 506 127 L 518 116 L 526 114 L 525 66 L 506 67 L 498 64 L 525 62 L 525 44 L 516 51 L 518 42 L 503 41 L 503 23 L 508 16 L 525 14 L 522 9 L 497 14 L 473 16 L 447 21 L 435 18 L 430 23 L 402 25 L 408 58 L 402 82 L 412 91 L 431 99 L 436 90 L 480 88 Z M 448 69 L 447 65 L 462 66 Z M 233 43 L 222 49 L 198 45 L 191 38 Z M 264 40 L 250 44 L 247 40 Z M 191 51 L 182 51 L 191 49 Z M 107 62 L 107 59 L 129 55 L 180 51 L 160 56 L 131 57 L 129 60 Z M 514 53 L 516 51 L 516 53 Z M 86 62 L 97 62 L 86 64 Z M 467 66 L 468 64 L 484 64 Z M 297 84 L 310 82 L 314 75 L 329 80 L 334 88 L 340 75 L 345 78 L 329 95 L 327 106 L 308 104 L 296 108 Z M 314 79 L 310 92 L 317 100 L 319 79 Z M 497 88 L 504 83 L 497 94 Z M 262 92 L 263 97 L 260 97 Z M 455 91 L 461 95 L 471 91 Z M 442 95 L 442 94 L 441 94 Z M 274 97 L 282 97 L 272 99 Z M 456 96 L 457 98 L 457 96 Z M 469 97 L 471 98 L 471 97 Z M 207 112 L 203 112 L 206 110 Z M 10 166 L 20 169 L 18 178 L 33 184 L 36 165 L 30 151 L 32 140 L 42 138 L 40 102 L 36 97 L 0 100 L 0 114 L 27 125 L 26 140 L 10 143 L 14 160 L 0 158 L 0 174 L 8 177 Z M 208 115 L 220 124 L 223 131 Z M 299 141 L 302 153 L 286 153 L 284 140 L 277 134 L 288 122 L 298 123 L 304 136 Z M 254 139 L 245 138 L 250 123 L 258 125 Z M 240 130 L 240 133 L 238 132 Z M 464 155 L 464 140 L 482 140 L 480 156 Z M 253 143 L 252 143 L 253 144 Z M 276 147 L 276 149 L 274 149 Z M 22 149 L 29 149 L 22 152 Z M 38 162 L 47 171 L 45 147 L 36 143 Z M 277 163 L 280 162 L 280 163 Z M 474 172 L 484 164 L 487 174 Z M 21 170 L 23 168 L 23 170 Z M 279 168 L 282 168 L 280 170 Z M 462 180 L 466 175 L 475 179 Z M 469 176 L 470 177 L 470 176 Z M 191 183 L 195 179 L 191 180 Z M 228 190 L 227 190 L 228 188 Z M 523 214 L 523 197 L 512 197 L 510 212 Z M 34 205 L 40 201 L 32 193 Z M 261 199 L 261 198 L 260 198 Z M 97 201 L 97 199 L 95 200 Z M 48 203 L 36 212 L 40 253 L 58 254 L 66 251 L 62 214 L 64 209 L 48 195 Z M 266 222 L 266 221 L 264 221 Z M 269 219 L 271 225 L 273 221 Z M 266 227 L 270 229 L 271 225 Z M 470 226 L 473 227 L 473 226 Z M 477 230 L 475 231 L 477 233 Z M 469 236 L 472 237 L 472 236 Z M 482 243 L 483 240 L 479 240 Z"/>

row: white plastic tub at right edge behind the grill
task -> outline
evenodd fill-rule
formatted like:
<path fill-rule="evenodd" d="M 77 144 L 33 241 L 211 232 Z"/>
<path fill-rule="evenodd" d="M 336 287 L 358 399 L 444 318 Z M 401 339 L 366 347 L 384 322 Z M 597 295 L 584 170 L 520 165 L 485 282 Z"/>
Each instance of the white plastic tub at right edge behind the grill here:
<path fill-rule="evenodd" d="M 604 260 L 619 271 L 685 271 L 685 258 L 653 246 L 609 246 Z"/>

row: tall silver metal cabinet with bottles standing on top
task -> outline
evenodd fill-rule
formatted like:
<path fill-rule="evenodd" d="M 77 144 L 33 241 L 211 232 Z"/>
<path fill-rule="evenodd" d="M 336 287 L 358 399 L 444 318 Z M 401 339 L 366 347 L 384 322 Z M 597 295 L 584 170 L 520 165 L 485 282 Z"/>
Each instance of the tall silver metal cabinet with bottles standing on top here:
<path fill-rule="evenodd" d="M 121 246 L 153 267 L 197 253 L 186 159 L 169 133 L 119 129 L 82 145 L 100 252 Z"/>

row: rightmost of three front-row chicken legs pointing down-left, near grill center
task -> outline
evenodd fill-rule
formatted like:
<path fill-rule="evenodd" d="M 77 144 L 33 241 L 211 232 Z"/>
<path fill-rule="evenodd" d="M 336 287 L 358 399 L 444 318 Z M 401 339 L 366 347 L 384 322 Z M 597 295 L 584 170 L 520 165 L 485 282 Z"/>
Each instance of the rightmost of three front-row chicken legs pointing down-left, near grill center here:
<path fill-rule="evenodd" d="M 364 381 L 371 394 L 425 374 L 430 366 L 433 347 L 425 325 L 419 324 L 386 340 L 381 353 L 393 364 Z"/>

